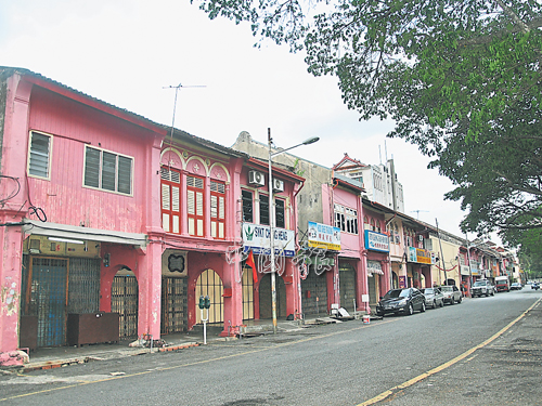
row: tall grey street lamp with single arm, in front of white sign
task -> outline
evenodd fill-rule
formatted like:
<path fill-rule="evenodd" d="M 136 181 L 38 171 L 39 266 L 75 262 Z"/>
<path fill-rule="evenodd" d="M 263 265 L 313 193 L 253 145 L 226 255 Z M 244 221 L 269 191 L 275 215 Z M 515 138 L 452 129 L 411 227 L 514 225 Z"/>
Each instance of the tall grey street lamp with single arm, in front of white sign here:
<path fill-rule="evenodd" d="M 271 261 L 271 307 L 273 311 L 273 333 L 276 333 L 276 269 L 274 263 L 274 228 L 276 226 L 275 219 L 275 208 L 274 208 L 274 199 L 273 199 L 273 172 L 271 169 L 271 161 L 273 157 L 285 153 L 286 150 L 296 148 L 301 145 L 309 145 L 315 143 L 320 137 L 312 136 L 310 139 L 305 140 L 302 143 L 291 146 L 286 149 L 281 149 L 276 153 L 271 152 L 271 144 L 273 139 L 271 139 L 271 129 L 268 128 L 268 145 L 269 145 L 269 245 L 270 245 L 270 257 Z"/>

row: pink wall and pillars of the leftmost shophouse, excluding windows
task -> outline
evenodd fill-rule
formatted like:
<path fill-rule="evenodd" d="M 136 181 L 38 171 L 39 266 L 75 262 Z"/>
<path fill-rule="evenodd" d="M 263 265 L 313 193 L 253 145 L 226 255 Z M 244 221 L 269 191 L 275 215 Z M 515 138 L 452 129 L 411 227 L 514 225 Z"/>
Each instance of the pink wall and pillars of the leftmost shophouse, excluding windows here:
<path fill-rule="evenodd" d="M 150 126 L 130 123 L 127 119 L 131 117 L 119 118 L 126 116 L 64 88 L 46 83 L 79 101 L 33 82 L 41 81 L 34 77 L 13 75 L 8 80 L 7 94 L 2 94 L 7 107 L 2 134 L 2 174 L 17 178 L 21 183 L 20 193 L 2 207 L 2 222 L 8 221 L 4 218 L 7 214 L 10 214 L 11 222 L 18 222 L 25 217 L 36 220 L 35 215 L 28 213 L 31 204 L 44 211 L 48 222 L 129 233 L 160 231 L 159 213 L 153 210 L 154 207 L 159 208 L 159 175 L 154 176 L 153 173 L 159 167 L 158 148 L 164 130 L 155 127 L 156 131 L 152 131 Z M 82 100 L 89 105 L 81 103 Z M 133 120 L 138 121 L 137 118 Z M 52 135 L 49 180 L 26 176 L 31 130 Z M 133 158 L 131 196 L 83 187 L 85 145 Z M 1 187 L 3 196 L 8 196 L 4 182 Z M 9 187 L 13 189 L 13 185 Z M 20 226 L 1 231 L 1 287 L 9 284 L 13 298 L 9 303 L 9 312 L 3 309 L 5 304 L 0 303 L 0 352 L 13 351 L 18 346 L 22 240 Z M 130 258 L 130 252 L 125 252 L 120 246 L 116 246 L 112 253 Z M 129 266 L 137 271 L 142 292 L 140 329 L 156 332 L 156 337 L 159 337 L 160 254 L 162 247 L 150 246 L 146 252 L 131 257 L 134 263 Z M 126 262 L 130 261 L 121 260 L 119 264 Z M 101 310 L 111 310 L 114 274 L 112 270 L 103 270 Z"/>

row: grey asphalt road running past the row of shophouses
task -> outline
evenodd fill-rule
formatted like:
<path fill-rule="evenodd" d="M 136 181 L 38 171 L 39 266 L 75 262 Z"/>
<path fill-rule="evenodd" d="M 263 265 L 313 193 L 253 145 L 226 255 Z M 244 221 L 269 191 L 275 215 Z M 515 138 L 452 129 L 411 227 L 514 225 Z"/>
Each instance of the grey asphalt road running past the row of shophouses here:
<path fill-rule="evenodd" d="M 11 405 L 542 405 L 542 292 L 0 377 Z"/>

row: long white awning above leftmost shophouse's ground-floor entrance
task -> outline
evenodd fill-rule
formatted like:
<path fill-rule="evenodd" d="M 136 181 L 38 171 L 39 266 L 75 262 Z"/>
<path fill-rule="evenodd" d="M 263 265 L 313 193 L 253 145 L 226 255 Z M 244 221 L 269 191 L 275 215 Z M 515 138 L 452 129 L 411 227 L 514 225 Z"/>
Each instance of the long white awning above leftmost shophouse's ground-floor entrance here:
<path fill-rule="evenodd" d="M 25 219 L 23 222 L 25 223 L 25 225 L 23 225 L 23 232 L 26 235 L 41 235 L 46 237 L 60 237 L 112 244 L 128 244 L 141 247 L 146 247 L 147 244 L 145 234 L 122 233 L 50 222 L 43 223 L 28 219 Z"/>

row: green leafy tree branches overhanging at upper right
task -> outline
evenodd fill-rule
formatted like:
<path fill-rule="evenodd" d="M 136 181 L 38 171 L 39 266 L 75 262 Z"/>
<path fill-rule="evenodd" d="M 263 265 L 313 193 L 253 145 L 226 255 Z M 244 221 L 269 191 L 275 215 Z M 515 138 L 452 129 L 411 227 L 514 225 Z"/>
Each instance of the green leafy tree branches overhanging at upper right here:
<path fill-rule="evenodd" d="M 211 18 L 304 49 L 362 119 L 449 176 L 464 231 L 513 243 L 542 227 L 542 4 L 538 0 L 193 0 Z M 535 233 L 534 233 L 535 234 Z"/>

